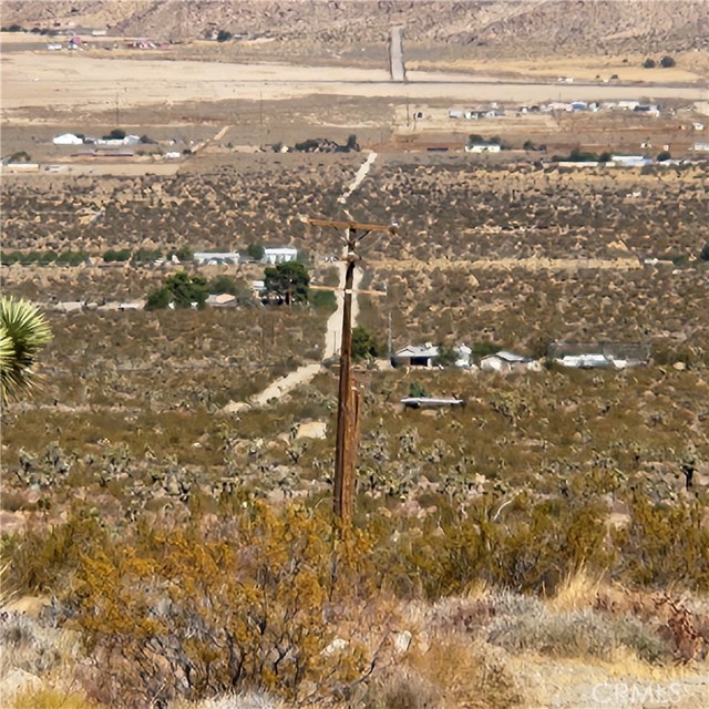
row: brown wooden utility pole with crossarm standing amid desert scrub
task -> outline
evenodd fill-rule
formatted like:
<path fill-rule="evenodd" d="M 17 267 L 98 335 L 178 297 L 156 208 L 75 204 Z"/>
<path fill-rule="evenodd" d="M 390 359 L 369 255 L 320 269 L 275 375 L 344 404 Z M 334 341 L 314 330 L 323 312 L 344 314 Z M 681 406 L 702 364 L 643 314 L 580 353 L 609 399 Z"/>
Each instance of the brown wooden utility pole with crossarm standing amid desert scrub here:
<path fill-rule="evenodd" d="M 354 264 L 359 260 L 354 248 L 371 232 L 395 234 L 397 225 L 360 224 L 336 219 L 308 219 L 314 226 L 347 229 L 347 270 L 342 300 L 342 340 L 340 345 L 340 386 L 337 401 L 337 435 L 335 448 L 335 491 L 332 508 L 343 526 L 352 521 L 354 499 L 354 462 L 359 439 L 361 392 L 352 389 L 352 287 Z"/>

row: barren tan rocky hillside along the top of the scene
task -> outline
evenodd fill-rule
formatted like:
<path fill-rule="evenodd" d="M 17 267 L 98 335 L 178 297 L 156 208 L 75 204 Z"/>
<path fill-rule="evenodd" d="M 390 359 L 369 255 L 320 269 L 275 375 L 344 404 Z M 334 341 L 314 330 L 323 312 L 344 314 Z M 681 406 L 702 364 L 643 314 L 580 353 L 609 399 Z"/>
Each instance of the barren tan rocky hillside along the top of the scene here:
<path fill-rule="evenodd" d="M 196 39 L 217 30 L 340 44 L 386 38 L 404 24 L 412 42 L 500 54 L 679 52 L 709 47 L 703 0 L 6 0 L 2 23 L 107 28 L 110 34 Z"/>

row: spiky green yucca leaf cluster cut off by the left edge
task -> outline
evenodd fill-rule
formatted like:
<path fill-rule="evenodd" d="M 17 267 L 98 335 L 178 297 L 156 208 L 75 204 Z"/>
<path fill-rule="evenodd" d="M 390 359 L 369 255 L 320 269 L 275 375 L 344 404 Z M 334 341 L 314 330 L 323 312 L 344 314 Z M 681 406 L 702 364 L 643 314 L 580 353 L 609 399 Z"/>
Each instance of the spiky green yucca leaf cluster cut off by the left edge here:
<path fill-rule="evenodd" d="M 0 305 L 0 380 L 2 403 L 37 388 L 39 351 L 52 339 L 47 317 L 29 300 L 3 297 Z"/>

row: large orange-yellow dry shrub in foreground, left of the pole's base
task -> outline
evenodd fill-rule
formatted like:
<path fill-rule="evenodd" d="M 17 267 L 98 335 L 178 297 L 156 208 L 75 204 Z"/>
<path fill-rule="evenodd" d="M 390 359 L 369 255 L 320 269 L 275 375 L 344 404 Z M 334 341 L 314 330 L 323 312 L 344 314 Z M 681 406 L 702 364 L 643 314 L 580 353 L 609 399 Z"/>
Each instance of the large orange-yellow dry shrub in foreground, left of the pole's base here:
<path fill-rule="evenodd" d="M 333 552 L 325 515 L 256 503 L 208 534 L 143 530 L 84 556 L 65 604 L 92 656 L 90 695 L 164 707 L 233 690 L 292 702 L 345 691 L 371 669 L 357 639 L 330 646 L 369 593 L 368 552 L 357 533 Z"/>

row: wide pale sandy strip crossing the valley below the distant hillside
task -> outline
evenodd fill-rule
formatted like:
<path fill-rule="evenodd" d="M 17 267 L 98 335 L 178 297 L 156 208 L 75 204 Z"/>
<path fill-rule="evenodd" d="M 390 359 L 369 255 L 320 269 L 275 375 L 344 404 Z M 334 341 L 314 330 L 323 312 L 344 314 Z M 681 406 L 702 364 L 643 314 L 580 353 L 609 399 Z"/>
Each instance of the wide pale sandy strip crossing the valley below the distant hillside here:
<path fill-rule="evenodd" d="M 196 61 L 96 59 L 82 53 L 3 54 L 6 117 L 32 107 L 100 111 L 187 101 L 285 100 L 304 95 L 391 96 L 422 100 L 540 102 L 680 97 L 701 101 L 702 86 L 521 84 L 442 72 L 409 72 L 409 83 L 389 81 L 386 70 L 286 64 L 226 64 Z M 13 116 L 16 117 L 16 116 Z"/>

